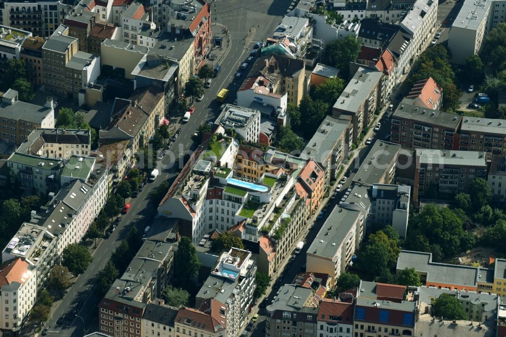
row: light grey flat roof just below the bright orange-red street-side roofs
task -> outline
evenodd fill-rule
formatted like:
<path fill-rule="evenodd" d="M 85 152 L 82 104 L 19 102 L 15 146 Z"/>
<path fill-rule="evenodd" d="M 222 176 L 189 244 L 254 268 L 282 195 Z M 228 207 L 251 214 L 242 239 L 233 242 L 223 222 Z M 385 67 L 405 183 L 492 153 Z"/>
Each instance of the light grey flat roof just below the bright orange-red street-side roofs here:
<path fill-rule="evenodd" d="M 359 67 L 341 96 L 335 101 L 333 109 L 357 112 L 382 76 L 381 71 Z"/>

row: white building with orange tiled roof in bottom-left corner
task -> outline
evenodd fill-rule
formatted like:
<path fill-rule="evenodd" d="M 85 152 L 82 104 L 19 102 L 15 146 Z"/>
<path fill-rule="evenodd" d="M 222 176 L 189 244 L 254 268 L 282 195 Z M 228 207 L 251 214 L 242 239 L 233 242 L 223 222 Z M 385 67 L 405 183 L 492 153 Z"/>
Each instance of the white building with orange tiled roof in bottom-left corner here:
<path fill-rule="evenodd" d="M 0 331 L 17 336 L 37 294 L 36 273 L 28 262 L 17 258 L 0 266 Z"/>

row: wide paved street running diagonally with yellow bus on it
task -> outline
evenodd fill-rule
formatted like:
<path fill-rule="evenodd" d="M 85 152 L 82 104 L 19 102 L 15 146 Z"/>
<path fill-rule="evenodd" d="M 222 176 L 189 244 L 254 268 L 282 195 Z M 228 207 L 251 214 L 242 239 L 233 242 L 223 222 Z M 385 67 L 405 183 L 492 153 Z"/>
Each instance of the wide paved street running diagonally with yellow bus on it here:
<path fill-rule="evenodd" d="M 51 327 L 48 336 L 82 336 L 83 333 L 97 330 L 97 304 L 100 298 L 93 291 L 96 273 L 105 266 L 111 252 L 126 237 L 132 226 L 138 226 L 139 232 L 142 233 L 146 224 L 154 218 L 156 209 L 148 204 L 147 196 L 149 191 L 164 180 L 172 183 L 178 172 L 177 168 L 172 165 L 174 158 L 192 148 L 191 136 L 202 122 L 214 121 L 218 115 L 221 103 L 217 102 L 215 98 L 220 89 L 228 88 L 230 90 L 230 96 L 225 103 L 232 103 L 236 99 L 237 89 L 242 84 L 244 74 L 249 71 L 249 68 L 244 70 L 240 79 L 234 78 L 235 72 L 249 56 L 255 41 L 265 39 L 274 31 L 274 28 L 281 21 L 281 15 L 286 12 L 290 3 L 290 0 L 275 2 L 271 0 L 261 0 L 260 2 L 217 0 L 213 3 L 212 10 L 215 22 L 224 24 L 229 29 L 231 36 L 230 50 L 226 52 L 220 62 L 222 69 L 218 76 L 213 79 L 210 88 L 205 89 L 204 99 L 201 102 L 195 102 L 193 105 L 195 112 L 189 122 L 181 125 L 183 132 L 171 146 L 172 154 L 166 155 L 158 163 L 158 168 L 161 168 L 160 176 L 153 183 L 147 184 L 139 193 L 139 196 L 130 201 L 132 204 L 130 212 L 122 216 L 121 223 L 111 236 L 100 243 L 94 253 L 93 263 L 85 273 L 77 277 L 58 307 L 53 309 L 53 314 L 46 323 Z M 254 27 L 258 22 L 262 22 L 262 25 L 257 24 Z M 252 34 L 248 34 L 250 28 L 255 28 L 252 30 Z M 213 29 L 222 30 L 222 26 L 213 25 Z M 215 33 L 219 32 L 214 31 Z M 227 46 L 225 45 L 225 47 Z M 70 312 L 80 300 L 84 301 L 84 305 L 69 326 L 57 325 L 56 320 L 61 315 Z M 83 322 L 85 322 L 84 330 Z M 23 334 L 26 336 L 33 335 L 28 329 L 24 330 Z"/>

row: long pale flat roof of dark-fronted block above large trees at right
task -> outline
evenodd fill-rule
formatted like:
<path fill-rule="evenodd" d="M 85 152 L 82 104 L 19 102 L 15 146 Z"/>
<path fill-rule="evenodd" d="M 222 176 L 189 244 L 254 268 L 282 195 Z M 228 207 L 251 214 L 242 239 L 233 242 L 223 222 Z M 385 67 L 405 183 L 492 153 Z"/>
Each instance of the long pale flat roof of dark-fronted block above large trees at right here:
<path fill-rule="evenodd" d="M 487 156 L 480 151 L 416 149 L 416 156 L 420 164 L 487 167 Z"/>

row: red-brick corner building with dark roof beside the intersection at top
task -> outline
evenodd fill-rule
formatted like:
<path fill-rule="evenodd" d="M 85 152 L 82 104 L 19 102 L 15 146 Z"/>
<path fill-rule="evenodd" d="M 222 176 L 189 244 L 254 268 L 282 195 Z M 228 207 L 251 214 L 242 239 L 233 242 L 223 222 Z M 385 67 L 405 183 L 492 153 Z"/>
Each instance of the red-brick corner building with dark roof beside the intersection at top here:
<path fill-rule="evenodd" d="M 211 5 L 202 1 L 182 2 L 178 0 L 151 1 L 153 21 L 161 30 L 173 34 L 183 33 L 195 37 L 195 68 L 199 68 L 209 52 L 211 41 Z"/>

